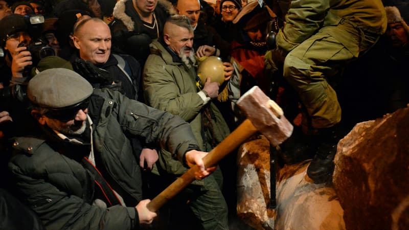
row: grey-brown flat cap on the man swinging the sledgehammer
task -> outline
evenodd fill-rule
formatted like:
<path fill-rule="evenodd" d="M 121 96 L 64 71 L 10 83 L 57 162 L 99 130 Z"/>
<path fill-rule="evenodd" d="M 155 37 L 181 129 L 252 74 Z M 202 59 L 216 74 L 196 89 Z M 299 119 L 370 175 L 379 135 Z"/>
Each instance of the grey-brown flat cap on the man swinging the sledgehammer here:
<path fill-rule="evenodd" d="M 78 104 L 93 93 L 93 87 L 79 74 L 66 68 L 38 73 L 27 88 L 30 101 L 42 108 L 64 108 Z"/>

